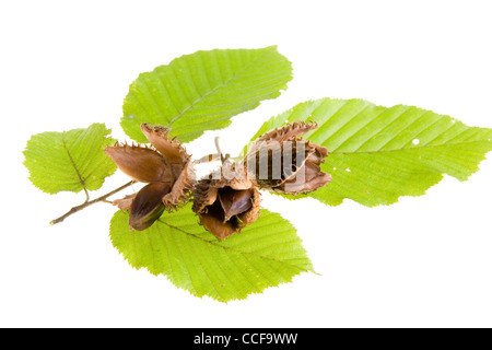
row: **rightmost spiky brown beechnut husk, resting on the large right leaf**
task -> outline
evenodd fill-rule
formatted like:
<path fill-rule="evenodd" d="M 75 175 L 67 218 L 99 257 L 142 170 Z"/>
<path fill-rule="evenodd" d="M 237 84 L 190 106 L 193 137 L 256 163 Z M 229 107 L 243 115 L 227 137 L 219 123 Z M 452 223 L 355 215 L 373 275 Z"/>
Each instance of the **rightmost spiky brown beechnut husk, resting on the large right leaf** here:
<path fill-rule="evenodd" d="M 295 121 L 260 136 L 244 159 L 248 176 L 260 189 L 292 195 L 325 186 L 331 175 L 319 165 L 328 150 L 302 138 L 317 127 L 316 122 Z"/>

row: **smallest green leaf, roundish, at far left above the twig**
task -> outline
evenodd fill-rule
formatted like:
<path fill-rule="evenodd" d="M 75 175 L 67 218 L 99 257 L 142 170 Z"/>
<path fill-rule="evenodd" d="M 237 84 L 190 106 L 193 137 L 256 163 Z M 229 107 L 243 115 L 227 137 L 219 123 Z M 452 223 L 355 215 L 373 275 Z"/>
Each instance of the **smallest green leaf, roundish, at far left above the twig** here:
<path fill-rule="evenodd" d="M 98 189 L 116 165 L 104 154 L 110 130 L 104 124 L 86 129 L 33 135 L 24 150 L 31 182 L 48 194 Z"/>

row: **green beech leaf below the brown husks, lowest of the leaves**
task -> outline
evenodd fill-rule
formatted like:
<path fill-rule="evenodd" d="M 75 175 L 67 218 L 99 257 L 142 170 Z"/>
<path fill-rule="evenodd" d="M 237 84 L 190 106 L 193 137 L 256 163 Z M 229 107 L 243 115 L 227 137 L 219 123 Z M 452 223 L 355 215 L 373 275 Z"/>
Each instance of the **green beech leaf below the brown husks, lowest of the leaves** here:
<path fill-rule="evenodd" d="M 118 211 L 110 223 L 113 245 L 132 267 L 220 302 L 245 299 L 313 270 L 295 229 L 280 214 L 262 210 L 254 224 L 222 242 L 198 224 L 190 208 L 165 213 L 141 232 L 129 231 L 128 213 Z"/>

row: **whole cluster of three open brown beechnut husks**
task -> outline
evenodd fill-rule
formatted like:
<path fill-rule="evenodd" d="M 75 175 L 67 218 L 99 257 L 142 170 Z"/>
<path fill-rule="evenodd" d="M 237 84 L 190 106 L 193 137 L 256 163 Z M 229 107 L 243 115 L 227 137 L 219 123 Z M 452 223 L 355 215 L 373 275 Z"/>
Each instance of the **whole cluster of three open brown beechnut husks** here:
<path fill-rule="evenodd" d="M 105 153 L 134 180 L 147 183 L 137 194 L 114 201 L 129 210 L 133 230 L 150 228 L 164 210 L 192 200 L 200 223 L 225 240 L 260 215 L 260 191 L 296 195 L 316 190 L 331 180 L 320 170 L 328 150 L 303 140 L 316 122 L 295 121 L 256 139 L 242 161 L 222 158 L 221 168 L 196 178 L 194 162 L 169 128 L 141 125 L 151 143 L 107 147 Z"/>

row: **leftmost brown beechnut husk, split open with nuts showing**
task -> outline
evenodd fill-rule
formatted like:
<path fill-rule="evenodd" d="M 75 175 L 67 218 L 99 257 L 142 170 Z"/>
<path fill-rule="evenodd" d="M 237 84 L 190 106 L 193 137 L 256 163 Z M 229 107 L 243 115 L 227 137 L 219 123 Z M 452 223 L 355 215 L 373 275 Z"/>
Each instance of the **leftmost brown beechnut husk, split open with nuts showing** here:
<path fill-rule="evenodd" d="M 121 210 L 130 210 L 129 225 L 138 231 L 151 226 L 165 209 L 185 203 L 194 186 L 190 155 L 179 141 L 168 138 L 169 129 L 148 124 L 141 129 L 154 149 L 117 143 L 105 150 L 125 174 L 149 183 L 138 194 L 114 201 Z"/>

